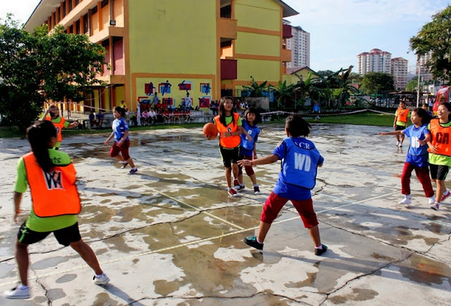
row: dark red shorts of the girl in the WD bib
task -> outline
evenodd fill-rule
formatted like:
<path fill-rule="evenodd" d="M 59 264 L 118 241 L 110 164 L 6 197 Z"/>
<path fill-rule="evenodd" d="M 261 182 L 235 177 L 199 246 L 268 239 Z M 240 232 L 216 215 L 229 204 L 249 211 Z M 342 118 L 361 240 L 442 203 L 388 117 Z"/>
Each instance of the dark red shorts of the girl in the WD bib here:
<path fill-rule="evenodd" d="M 280 209 L 282 209 L 283 205 L 285 205 L 288 200 L 290 199 L 279 197 L 276 193 L 271 191 L 271 195 L 269 195 L 268 200 L 266 200 L 263 210 L 261 211 L 260 221 L 272 224 L 280 212 Z M 318 219 L 316 219 L 311 198 L 307 200 L 290 201 L 295 206 L 299 216 L 301 216 L 305 228 L 311 228 L 318 225 Z"/>

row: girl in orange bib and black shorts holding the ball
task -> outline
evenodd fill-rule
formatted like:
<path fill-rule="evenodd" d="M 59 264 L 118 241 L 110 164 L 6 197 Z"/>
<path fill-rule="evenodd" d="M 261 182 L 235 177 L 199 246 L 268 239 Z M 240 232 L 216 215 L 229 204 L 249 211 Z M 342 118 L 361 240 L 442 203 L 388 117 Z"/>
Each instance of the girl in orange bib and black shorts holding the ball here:
<path fill-rule="evenodd" d="M 237 197 L 236 190 L 232 188 L 232 172 L 233 177 L 237 178 L 237 161 L 240 151 L 242 121 L 240 115 L 233 111 L 233 97 L 221 98 L 221 102 L 219 102 L 219 114 L 214 118 L 214 124 L 220 133 L 219 152 L 221 153 L 223 164 L 226 168 L 228 194 L 232 197 Z"/>

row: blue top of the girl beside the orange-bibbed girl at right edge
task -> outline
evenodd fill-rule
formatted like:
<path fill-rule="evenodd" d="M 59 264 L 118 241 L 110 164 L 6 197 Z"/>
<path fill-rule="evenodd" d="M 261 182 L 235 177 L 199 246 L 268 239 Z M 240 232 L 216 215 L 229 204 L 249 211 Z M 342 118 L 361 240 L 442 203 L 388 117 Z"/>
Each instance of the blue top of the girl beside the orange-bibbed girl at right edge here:
<path fill-rule="evenodd" d="M 402 132 L 410 139 L 406 162 L 417 167 L 426 168 L 428 166 L 428 146 L 420 145 L 418 140 L 424 140 L 426 134 L 429 134 L 427 125 L 425 124 L 419 128 L 412 125 Z"/>

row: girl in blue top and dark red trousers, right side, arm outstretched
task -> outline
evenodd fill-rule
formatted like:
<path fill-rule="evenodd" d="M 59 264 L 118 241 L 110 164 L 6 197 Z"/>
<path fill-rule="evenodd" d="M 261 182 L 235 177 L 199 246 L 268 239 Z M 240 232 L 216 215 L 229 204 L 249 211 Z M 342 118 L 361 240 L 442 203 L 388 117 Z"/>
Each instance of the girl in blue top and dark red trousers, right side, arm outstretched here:
<path fill-rule="evenodd" d="M 410 199 L 410 177 L 412 170 L 415 170 L 416 177 L 423 186 L 424 194 L 428 197 L 428 203 L 435 203 L 431 178 L 429 178 L 428 168 L 428 146 L 426 142 L 430 139 L 431 133 L 427 126 L 431 121 L 431 116 L 424 109 L 414 109 L 410 117 L 412 126 L 405 130 L 394 130 L 393 132 L 378 133 L 379 135 L 406 135 L 410 138 L 409 150 L 407 152 L 404 169 L 401 176 L 401 193 L 404 195 L 399 203 L 409 205 Z"/>

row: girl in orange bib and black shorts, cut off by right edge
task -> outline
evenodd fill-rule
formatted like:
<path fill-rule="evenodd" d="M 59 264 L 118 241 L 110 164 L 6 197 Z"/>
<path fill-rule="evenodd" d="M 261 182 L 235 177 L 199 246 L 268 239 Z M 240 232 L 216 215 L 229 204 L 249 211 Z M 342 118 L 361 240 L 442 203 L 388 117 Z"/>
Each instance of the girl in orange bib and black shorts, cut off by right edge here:
<path fill-rule="evenodd" d="M 438 119 L 432 119 L 428 126 L 431 131 L 431 140 L 428 141 L 429 169 L 437 185 L 435 203 L 431 205 L 435 210 L 440 209 L 440 203 L 451 195 L 445 187 L 445 178 L 451 166 L 450 114 L 451 104 L 440 104 L 437 109 Z"/>

